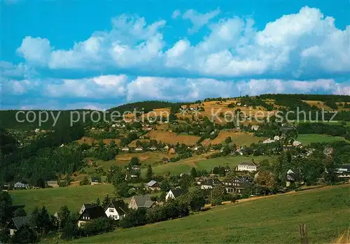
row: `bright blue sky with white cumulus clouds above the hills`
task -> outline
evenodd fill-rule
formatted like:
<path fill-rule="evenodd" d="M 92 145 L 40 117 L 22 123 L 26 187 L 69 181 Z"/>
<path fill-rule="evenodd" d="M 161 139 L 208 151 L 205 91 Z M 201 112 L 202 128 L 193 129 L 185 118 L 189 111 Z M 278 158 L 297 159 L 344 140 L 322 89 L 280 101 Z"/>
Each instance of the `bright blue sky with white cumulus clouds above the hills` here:
<path fill-rule="evenodd" d="M 350 95 L 349 0 L 0 4 L 1 109 Z"/>

